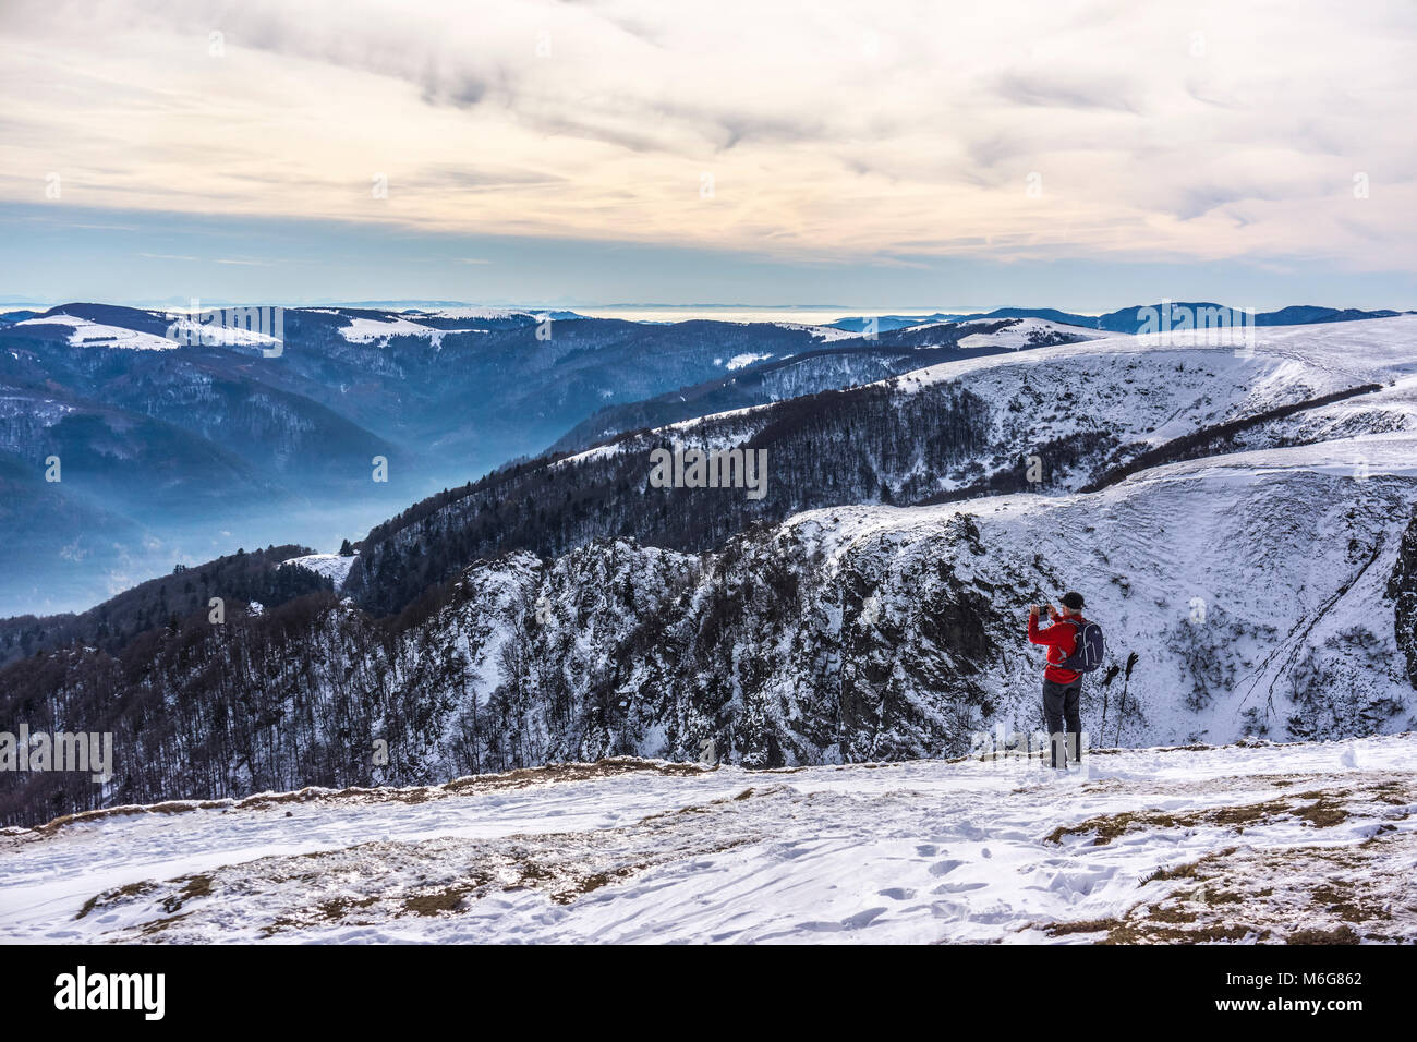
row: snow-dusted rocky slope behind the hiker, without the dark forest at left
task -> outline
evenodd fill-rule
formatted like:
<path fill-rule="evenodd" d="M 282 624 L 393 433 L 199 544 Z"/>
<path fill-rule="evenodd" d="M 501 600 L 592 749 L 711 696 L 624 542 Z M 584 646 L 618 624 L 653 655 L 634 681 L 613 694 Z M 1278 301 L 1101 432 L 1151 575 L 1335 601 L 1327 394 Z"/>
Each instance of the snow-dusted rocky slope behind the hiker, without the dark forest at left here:
<path fill-rule="evenodd" d="M 679 574 L 665 566 L 679 556 L 616 546 L 553 568 L 513 556 L 468 581 L 513 568 L 521 603 L 548 605 L 523 635 L 529 689 L 570 675 L 594 703 L 592 663 L 618 663 L 621 751 L 693 758 L 713 739 L 750 763 L 774 749 L 819 763 L 1027 732 L 1040 655 L 1024 610 L 1070 588 L 1105 627 L 1110 665 L 1138 655 L 1087 686 L 1093 734 L 1339 737 L 1417 722 L 1389 590 L 1414 502 L 1417 437 L 1389 434 L 1175 464 L 1097 493 L 820 509 Z M 582 574 L 592 564 L 611 576 Z M 622 607 L 622 586 L 638 604 Z M 431 625 L 479 661 L 473 635 L 516 629 L 523 612 L 469 593 Z M 570 737 L 546 720 L 550 746 Z"/>

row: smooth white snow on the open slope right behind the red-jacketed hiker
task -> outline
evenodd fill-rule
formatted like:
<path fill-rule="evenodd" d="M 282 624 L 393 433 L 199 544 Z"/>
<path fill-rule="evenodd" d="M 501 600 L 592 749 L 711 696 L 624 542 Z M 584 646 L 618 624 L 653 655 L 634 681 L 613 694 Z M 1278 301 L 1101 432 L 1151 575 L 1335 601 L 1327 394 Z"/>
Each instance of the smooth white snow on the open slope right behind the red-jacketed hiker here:
<path fill-rule="evenodd" d="M 1076 588 L 1104 627 L 1108 655 L 1142 656 L 1127 727 L 1107 727 L 1114 741 L 1227 741 L 1260 726 L 1282 734 L 1291 719 L 1319 733 L 1372 733 L 1413 719 L 1386 584 L 1417 500 L 1414 479 L 1417 432 L 1383 434 L 1172 464 L 1097 493 L 829 508 L 784 530 L 833 568 L 880 560 L 890 612 L 903 598 L 931 595 L 910 577 L 951 554 L 941 533 L 968 515 L 983 553 L 951 564 L 996 591 L 993 607 L 1009 620 L 996 634 L 1002 646 L 1022 646 L 1034 590 L 1056 600 Z M 1040 573 L 1037 560 L 1056 571 Z M 1322 709 L 1297 702 L 1308 693 L 1308 668 L 1328 676 Z M 1036 713 L 1033 659 L 1002 662 L 988 685 L 1005 720 Z M 1085 723 L 1101 702 L 1095 683 L 1084 689 Z M 1359 723 L 1362 705 L 1394 709 Z"/>

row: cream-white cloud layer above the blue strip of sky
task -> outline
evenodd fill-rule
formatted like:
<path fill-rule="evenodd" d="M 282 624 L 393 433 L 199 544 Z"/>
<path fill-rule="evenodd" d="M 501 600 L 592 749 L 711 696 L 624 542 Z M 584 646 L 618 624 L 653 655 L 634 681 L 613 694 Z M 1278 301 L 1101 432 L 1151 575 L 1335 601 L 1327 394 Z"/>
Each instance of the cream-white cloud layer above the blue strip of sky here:
<path fill-rule="evenodd" d="M 9 0 L 0 200 L 1410 271 L 1414 43 L 1319 0 Z"/>

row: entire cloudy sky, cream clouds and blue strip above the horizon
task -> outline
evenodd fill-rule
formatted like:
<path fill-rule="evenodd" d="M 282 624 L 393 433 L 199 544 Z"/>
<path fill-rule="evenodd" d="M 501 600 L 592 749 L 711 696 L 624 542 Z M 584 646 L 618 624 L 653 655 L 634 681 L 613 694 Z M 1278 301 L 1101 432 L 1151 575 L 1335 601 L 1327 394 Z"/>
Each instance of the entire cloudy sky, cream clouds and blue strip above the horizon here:
<path fill-rule="evenodd" d="M 1417 6 L 0 3 L 0 298 L 1417 306 Z"/>

